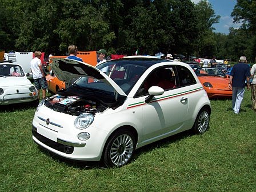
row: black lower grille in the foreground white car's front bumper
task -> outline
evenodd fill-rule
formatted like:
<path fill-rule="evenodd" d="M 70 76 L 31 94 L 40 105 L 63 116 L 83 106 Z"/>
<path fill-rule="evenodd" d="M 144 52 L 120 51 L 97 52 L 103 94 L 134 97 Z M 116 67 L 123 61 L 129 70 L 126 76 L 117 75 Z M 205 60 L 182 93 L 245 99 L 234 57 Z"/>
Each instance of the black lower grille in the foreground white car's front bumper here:
<path fill-rule="evenodd" d="M 63 145 L 61 143 L 57 143 L 55 141 L 52 141 L 51 139 L 48 139 L 46 137 L 43 137 L 43 135 L 37 133 L 36 131 L 37 129 L 35 127 L 32 128 L 32 134 L 35 138 L 38 139 L 38 141 L 42 142 L 43 144 L 55 149 L 55 150 L 58 150 L 58 151 L 61 151 L 63 153 L 66 153 L 66 154 L 71 154 L 74 152 L 74 147 L 72 146 L 67 146 L 67 145 Z"/>

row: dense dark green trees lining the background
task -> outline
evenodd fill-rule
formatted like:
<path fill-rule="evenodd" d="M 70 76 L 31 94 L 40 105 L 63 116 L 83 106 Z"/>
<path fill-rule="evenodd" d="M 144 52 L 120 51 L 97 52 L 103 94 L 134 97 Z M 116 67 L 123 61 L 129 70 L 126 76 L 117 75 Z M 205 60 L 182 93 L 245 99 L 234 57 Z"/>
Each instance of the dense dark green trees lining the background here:
<path fill-rule="evenodd" d="M 251 3 L 250 3 L 251 2 Z M 220 16 L 202 0 L 0 0 L 0 50 L 66 54 L 70 44 L 80 51 L 106 49 L 113 54 L 194 55 L 237 59 L 255 45 L 238 39 L 253 37 L 255 2 L 238 0 L 234 21 L 245 27 L 230 34 L 214 33 Z M 244 14 L 246 10 L 247 14 Z M 254 12 L 253 12 L 254 11 Z M 232 41 L 233 39 L 233 41 Z M 234 42 L 238 44 L 235 45 Z M 237 50 L 239 49 L 239 51 Z"/>

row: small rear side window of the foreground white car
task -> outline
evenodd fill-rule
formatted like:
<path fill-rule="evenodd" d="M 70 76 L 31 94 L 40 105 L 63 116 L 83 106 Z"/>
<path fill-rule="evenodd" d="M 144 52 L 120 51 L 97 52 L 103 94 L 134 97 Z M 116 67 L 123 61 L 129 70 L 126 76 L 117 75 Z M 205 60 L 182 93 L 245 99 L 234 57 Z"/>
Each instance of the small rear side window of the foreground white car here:
<path fill-rule="evenodd" d="M 196 83 L 193 74 L 190 70 L 183 66 L 177 66 L 178 71 L 178 81 L 180 86 L 188 86 Z"/>

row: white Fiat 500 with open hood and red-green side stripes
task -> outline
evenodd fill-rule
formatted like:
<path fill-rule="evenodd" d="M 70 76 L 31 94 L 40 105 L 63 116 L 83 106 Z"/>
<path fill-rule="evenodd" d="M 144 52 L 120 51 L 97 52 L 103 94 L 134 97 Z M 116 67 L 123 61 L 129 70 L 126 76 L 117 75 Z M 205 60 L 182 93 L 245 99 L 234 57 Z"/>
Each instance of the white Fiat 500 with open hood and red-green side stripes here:
<path fill-rule="evenodd" d="M 139 147 L 209 127 L 209 98 L 186 63 L 133 56 L 93 67 L 56 58 L 51 69 L 69 86 L 39 103 L 32 133 L 64 158 L 120 167 Z"/>

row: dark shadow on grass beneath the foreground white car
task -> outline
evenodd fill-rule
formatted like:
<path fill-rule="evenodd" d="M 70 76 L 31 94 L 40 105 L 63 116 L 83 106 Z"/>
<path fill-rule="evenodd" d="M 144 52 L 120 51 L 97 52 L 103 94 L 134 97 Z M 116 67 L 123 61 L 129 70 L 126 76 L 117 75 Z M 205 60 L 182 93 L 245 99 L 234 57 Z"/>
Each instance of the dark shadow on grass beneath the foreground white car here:
<path fill-rule="evenodd" d="M 178 133 L 175 135 L 172 135 L 170 137 L 161 139 L 159 141 L 156 141 L 154 143 L 150 143 L 149 145 L 143 146 L 139 148 L 138 150 L 135 150 L 134 157 L 131 159 L 131 161 L 134 161 L 134 159 L 138 158 L 143 153 L 149 153 L 150 151 L 158 148 L 167 147 L 170 143 L 180 141 L 184 138 L 190 137 L 193 135 L 191 130 L 183 131 L 182 133 Z M 57 154 L 52 153 L 51 151 L 48 151 L 41 146 L 38 146 L 38 149 L 41 150 L 42 153 L 45 153 L 49 155 L 54 161 L 63 163 L 67 166 L 72 166 L 77 169 L 81 170 L 87 170 L 87 169 L 108 169 L 108 167 L 103 163 L 103 161 L 99 162 L 91 162 L 91 161 L 73 161 L 70 159 L 63 158 Z"/>

